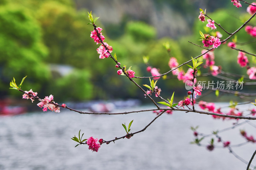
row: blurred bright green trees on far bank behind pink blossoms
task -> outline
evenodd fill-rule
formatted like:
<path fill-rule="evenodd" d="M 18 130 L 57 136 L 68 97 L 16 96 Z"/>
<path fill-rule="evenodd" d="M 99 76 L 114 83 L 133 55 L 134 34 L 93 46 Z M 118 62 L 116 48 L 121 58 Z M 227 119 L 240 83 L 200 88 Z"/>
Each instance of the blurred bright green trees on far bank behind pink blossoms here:
<path fill-rule="evenodd" d="M 156 1 L 156 3 L 162 2 L 166 1 Z M 172 8 L 178 8 L 180 3 L 182 2 L 170 1 L 168 5 L 172 4 Z M 87 10 L 78 11 L 75 5 L 72 0 L 0 0 L 1 96 L 12 94 L 20 97 L 20 93 L 8 90 L 9 82 L 12 77 L 19 80 L 27 75 L 22 89 L 32 88 L 42 98 L 50 94 L 54 95 L 54 99 L 63 102 L 144 98 L 143 93 L 132 85 L 132 82 L 124 76 L 117 75 L 115 63 L 111 58 L 99 59 L 96 51 L 99 45 L 96 45 L 90 37 L 92 26 L 87 25 L 89 22 Z M 185 6 L 189 8 L 189 2 Z M 249 14 L 241 14 L 236 10 L 236 8 L 219 9 L 207 14 L 214 18 L 215 22 L 221 23 L 228 32 L 233 32 L 250 17 Z M 205 28 L 206 22 L 202 23 L 197 19 L 198 11 L 191 11 L 191 15 L 196 19 L 195 25 L 191 28 L 193 34 L 180 36 L 178 40 L 169 37 L 157 39 L 156 28 L 141 21 L 126 22 L 128 20 L 126 17 L 119 26 L 109 24 L 107 29 L 111 31 L 108 34 L 100 19 L 96 24 L 103 28 L 105 42 L 113 47 L 112 54 L 116 53 L 117 60 L 122 66 L 123 64 L 126 64 L 127 68 L 132 66 L 132 70 L 136 72 L 135 76 L 151 76 L 146 72 L 142 56 L 149 56 L 149 64 L 160 69 L 160 73 L 164 73 L 170 70 L 168 66 L 170 56 L 176 57 L 181 64 L 191 56 L 201 54 L 201 48 L 188 41 L 202 45 L 201 41 L 197 41 L 200 37 L 199 30 L 209 34 L 214 34 L 215 31 Z M 255 20 L 252 22 L 255 23 Z M 217 31 L 223 34 L 223 38 L 227 37 L 219 27 Z M 237 35 L 238 42 L 252 40 L 244 29 Z M 170 55 L 163 46 L 165 42 L 170 43 Z M 238 48 L 256 52 L 253 43 Z M 245 74 L 246 69 L 239 67 L 236 57 L 237 51 L 226 45 L 215 50 L 216 65 L 222 65 L 224 71 Z M 248 56 L 248 59 L 252 61 L 251 56 Z M 61 70 L 56 70 L 54 64 L 71 66 L 72 69 L 67 74 L 61 74 Z M 188 67 L 183 66 L 183 70 L 186 72 Z M 172 74 L 168 76 L 172 77 Z M 148 84 L 148 79 L 136 79 L 136 82 L 139 85 Z M 169 95 L 175 88 L 183 89 L 183 82 L 177 79 L 163 81 L 161 78 L 158 86 Z"/>

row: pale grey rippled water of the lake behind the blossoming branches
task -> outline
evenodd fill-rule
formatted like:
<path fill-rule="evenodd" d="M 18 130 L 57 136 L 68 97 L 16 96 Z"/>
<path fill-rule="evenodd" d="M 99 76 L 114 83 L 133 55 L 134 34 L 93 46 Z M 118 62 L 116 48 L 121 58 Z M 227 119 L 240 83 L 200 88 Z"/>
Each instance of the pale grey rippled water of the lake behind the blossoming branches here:
<path fill-rule="evenodd" d="M 224 104 L 219 104 L 224 105 Z M 251 105 L 243 108 L 252 107 Z M 141 110 L 148 107 L 137 107 Z M 124 111 L 124 110 L 116 110 Z M 127 111 L 127 110 L 126 110 Z M 99 152 L 88 150 L 70 138 L 96 137 L 111 140 L 125 135 L 122 123 L 133 121 L 131 132 L 143 129 L 156 115 L 152 112 L 128 115 L 81 115 L 61 110 L 29 113 L 14 117 L 0 117 L 0 169 L 1 170 L 71 170 L 71 169 L 246 169 L 227 149 L 209 152 L 204 147 L 189 144 L 193 140 L 190 126 L 211 133 L 232 125 L 235 120 L 223 122 L 210 115 L 174 112 L 160 116 L 144 132 L 114 144 L 101 145 Z M 242 120 L 241 120 L 242 121 Z M 256 124 L 256 122 L 255 122 Z M 223 133 L 223 140 L 231 144 L 244 142 L 239 129 L 255 134 L 250 125 L 242 125 Z M 210 139 L 204 141 L 208 144 Z M 234 151 L 249 161 L 256 145 L 248 144 Z M 253 161 L 254 164 L 256 161 Z"/>

